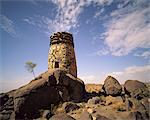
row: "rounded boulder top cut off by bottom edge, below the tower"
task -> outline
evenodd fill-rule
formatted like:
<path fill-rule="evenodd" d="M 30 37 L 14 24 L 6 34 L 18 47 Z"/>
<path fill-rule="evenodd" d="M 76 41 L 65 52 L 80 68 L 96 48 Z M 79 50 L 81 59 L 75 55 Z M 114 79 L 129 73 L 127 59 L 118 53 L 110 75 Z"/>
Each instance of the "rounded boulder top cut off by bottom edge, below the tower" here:
<path fill-rule="evenodd" d="M 52 116 L 49 120 L 75 120 L 75 119 L 67 115 L 66 113 L 61 113 L 61 114 Z"/>

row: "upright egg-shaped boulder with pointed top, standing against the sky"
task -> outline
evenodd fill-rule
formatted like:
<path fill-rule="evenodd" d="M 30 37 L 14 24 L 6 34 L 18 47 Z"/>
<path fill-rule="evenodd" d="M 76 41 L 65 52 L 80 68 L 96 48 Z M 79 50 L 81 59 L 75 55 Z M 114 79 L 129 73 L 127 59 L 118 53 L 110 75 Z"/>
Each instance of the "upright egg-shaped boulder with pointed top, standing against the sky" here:
<path fill-rule="evenodd" d="M 122 87 L 120 83 L 112 76 L 108 76 L 102 87 L 106 95 L 117 96 L 121 95 Z"/>

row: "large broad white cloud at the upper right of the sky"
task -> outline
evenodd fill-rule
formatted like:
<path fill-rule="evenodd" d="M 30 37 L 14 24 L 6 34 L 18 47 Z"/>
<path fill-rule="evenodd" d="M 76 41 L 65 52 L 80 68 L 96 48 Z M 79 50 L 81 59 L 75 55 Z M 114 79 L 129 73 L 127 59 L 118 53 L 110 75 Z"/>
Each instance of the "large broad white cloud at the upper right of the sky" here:
<path fill-rule="evenodd" d="M 137 48 L 150 48 L 150 2 L 132 1 L 111 13 L 102 38 L 114 56 L 128 55 Z"/>

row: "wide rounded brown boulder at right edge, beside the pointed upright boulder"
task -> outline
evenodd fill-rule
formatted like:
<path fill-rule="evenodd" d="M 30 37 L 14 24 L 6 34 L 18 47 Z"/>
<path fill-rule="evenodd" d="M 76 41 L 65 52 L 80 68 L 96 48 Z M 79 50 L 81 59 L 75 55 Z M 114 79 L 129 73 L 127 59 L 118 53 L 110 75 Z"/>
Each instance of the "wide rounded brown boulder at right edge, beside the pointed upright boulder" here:
<path fill-rule="evenodd" d="M 149 96 L 146 85 L 138 80 L 127 80 L 124 84 L 124 90 L 125 94 L 138 100 Z"/>

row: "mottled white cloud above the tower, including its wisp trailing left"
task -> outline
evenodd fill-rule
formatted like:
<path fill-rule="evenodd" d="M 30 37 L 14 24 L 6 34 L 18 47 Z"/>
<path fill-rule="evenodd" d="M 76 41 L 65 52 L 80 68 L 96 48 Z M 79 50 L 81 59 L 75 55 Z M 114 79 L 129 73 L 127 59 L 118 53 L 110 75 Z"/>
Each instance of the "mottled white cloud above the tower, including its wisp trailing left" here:
<path fill-rule="evenodd" d="M 50 19 L 44 16 L 33 16 L 23 19 L 28 24 L 32 24 L 43 29 L 44 32 L 70 31 L 72 28 L 79 27 L 79 16 L 84 7 L 90 4 L 99 6 L 110 5 L 113 0 L 51 0 L 57 7 L 55 18 Z M 103 10 L 102 10 L 103 11 Z M 101 12 L 102 12 L 101 11 Z M 45 20 L 45 21 L 44 21 Z M 47 29 L 45 29 L 47 26 Z"/>

